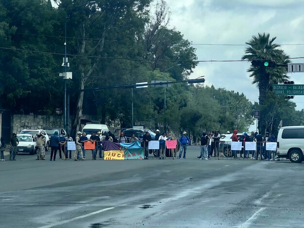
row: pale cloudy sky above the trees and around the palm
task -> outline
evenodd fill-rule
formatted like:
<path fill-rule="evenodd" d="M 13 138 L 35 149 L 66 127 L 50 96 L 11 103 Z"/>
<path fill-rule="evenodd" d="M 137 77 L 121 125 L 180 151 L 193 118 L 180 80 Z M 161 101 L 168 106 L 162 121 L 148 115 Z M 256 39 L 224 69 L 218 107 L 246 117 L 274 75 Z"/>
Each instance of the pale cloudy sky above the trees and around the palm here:
<path fill-rule="evenodd" d="M 184 34 L 197 49 L 198 60 L 240 60 L 245 42 L 257 33 L 276 36 L 276 43 L 290 57 L 304 56 L 304 0 L 166 0 L 170 26 Z M 202 45 L 226 44 L 226 45 Z M 227 46 L 236 45 L 236 46 Z M 290 45 L 291 44 L 291 45 Z M 294 45 L 302 44 L 302 45 Z M 304 59 L 291 60 L 304 63 Z M 205 84 L 244 93 L 258 101 L 258 89 L 247 73 L 251 64 L 199 63 L 190 78 L 205 75 Z M 304 73 L 288 74 L 290 81 L 304 84 Z M 293 101 L 304 109 L 304 97 Z"/>

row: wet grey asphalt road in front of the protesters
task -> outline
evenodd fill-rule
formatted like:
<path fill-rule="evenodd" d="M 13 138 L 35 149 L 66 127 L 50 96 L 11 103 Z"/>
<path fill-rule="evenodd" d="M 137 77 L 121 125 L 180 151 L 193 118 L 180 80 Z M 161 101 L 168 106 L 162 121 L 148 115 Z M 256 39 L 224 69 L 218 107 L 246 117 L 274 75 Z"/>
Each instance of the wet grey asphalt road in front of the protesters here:
<path fill-rule="evenodd" d="M 0 228 L 304 227 L 304 163 L 198 154 L 194 146 L 180 160 L 18 155 L 0 162 Z"/>

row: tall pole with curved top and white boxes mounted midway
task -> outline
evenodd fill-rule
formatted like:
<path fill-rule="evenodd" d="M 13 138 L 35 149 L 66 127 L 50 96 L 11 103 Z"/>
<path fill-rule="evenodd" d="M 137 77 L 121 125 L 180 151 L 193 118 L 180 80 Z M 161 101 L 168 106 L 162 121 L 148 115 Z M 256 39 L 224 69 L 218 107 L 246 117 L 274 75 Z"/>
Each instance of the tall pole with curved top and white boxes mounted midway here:
<path fill-rule="evenodd" d="M 65 98 L 64 98 L 64 117 L 63 117 L 63 125 L 66 131 L 69 133 L 70 128 L 69 128 L 69 94 L 67 93 L 67 79 L 72 79 L 72 72 L 67 72 L 67 67 L 69 66 L 68 63 L 68 58 L 67 58 L 67 18 L 68 18 L 68 13 L 72 12 L 74 9 L 81 7 L 83 5 L 86 5 L 88 3 L 95 3 L 96 1 L 87 1 L 79 6 L 76 6 L 72 8 L 70 11 L 66 12 L 66 17 L 65 17 L 65 58 L 63 61 L 62 66 L 65 67 L 65 72 L 63 73 L 63 79 L 65 81 Z M 69 74 L 68 74 L 69 73 Z"/>

